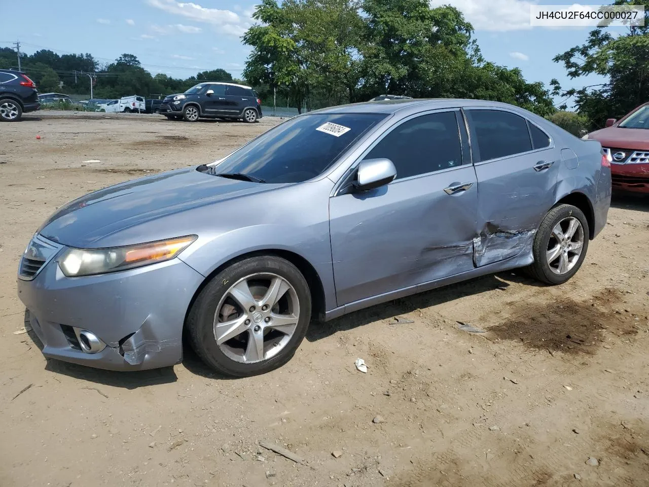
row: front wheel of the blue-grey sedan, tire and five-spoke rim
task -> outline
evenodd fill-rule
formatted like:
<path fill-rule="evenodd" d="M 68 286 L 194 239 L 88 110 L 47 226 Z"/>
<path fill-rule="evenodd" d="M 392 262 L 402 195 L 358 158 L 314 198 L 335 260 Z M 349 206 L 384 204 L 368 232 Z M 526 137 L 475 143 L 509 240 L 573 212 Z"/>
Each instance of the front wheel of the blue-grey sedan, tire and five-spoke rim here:
<path fill-rule="evenodd" d="M 269 308 L 260 307 L 273 282 L 282 283 L 280 297 L 269 299 Z M 245 310 L 233 299 L 232 292 L 241 289 L 249 290 L 256 301 L 239 300 L 245 306 L 254 303 L 254 309 Z M 296 310 L 297 323 L 293 323 Z M 302 273 L 283 258 L 256 256 L 234 262 L 206 284 L 191 305 L 186 329 L 191 347 L 210 368 L 231 377 L 250 377 L 286 364 L 304 339 L 310 319 L 311 294 Z M 217 320 L 234 324 L 217 331 Z M 284 331 L 278 331 L 273 323 Z M 237 332 L 240 334 L 233 335 Z M 217 333 L 223 340 L 220 345 Z M 261 353 L 254 336 L 261 340 Z"/>

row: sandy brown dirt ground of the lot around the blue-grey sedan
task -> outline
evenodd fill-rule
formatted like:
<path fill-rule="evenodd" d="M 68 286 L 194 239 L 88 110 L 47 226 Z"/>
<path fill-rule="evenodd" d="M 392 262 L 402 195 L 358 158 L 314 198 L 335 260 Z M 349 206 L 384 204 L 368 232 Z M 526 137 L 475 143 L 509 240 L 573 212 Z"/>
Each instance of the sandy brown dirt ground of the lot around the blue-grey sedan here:
<path fill-rule="evenodd" d="M 289 364 L 252 379 L 215 377 L 191 351 L 154 371 L 73 366 L 16 334 L 19 257 L 56 207 L 274 123 L 0 125 L 0 486 L 649 485 L 649 197 L 614 197 L 563 286 L 504 273 L 312 323 Z"/>

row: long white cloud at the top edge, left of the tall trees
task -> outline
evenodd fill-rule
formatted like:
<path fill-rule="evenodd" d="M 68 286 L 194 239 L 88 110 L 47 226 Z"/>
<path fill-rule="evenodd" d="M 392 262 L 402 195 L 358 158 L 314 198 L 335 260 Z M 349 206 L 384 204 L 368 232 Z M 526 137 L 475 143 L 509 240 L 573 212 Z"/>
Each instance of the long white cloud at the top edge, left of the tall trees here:
<path fill-rule="evenodd" d="M 244 12 L 244 18 L 242 19 L 238 14 L 232 12 L 232 10 L 206 8 L 193 2 L 147 0 L 147 3 L 175 16 L 182 16 L 196 22 L 214 25 L 218 27 L 217 31 L 232 36 L 241 36 L 250 25 L 248 11 Z"/>

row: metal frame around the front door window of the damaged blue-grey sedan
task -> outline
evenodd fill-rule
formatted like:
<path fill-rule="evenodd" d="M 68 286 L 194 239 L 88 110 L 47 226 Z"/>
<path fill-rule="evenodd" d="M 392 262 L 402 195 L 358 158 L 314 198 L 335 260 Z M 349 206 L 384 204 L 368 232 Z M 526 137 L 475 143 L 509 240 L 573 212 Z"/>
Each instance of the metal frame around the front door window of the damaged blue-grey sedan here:
<path fill-rule="evenodd" d="M 461 129 L 461 123 L 462 123 L 462 115 L 461 115 L 461 108 L 458 107 L 453 107 L 453 108 L 438 108 L 437 110 L 426 110 L 425 112 L 418 112 L 416 114 L 411 114 L 410 116 L 400 119 L 397 123 L 389 127 L 389 129 L 385 132 L 382 132 L 376 139 L 373 140 L 373 142 L 365 147 L 365 150 L 361 153 L 352 164 L 350 164 L 349 168 L 347 168 L 347 171 L 342 175 L 342 177 L 338 180 L 336 186 L 332 189 L 332 192 L 330 194 L 330 197 L 336 197 L 339 195 L 347 194 L 347 189 L 349 188 L 352 179 L 354 177 L 354 174 L 356 173 L 356 168 L 358 168 L 358 164 L 367 156 L 372 149 L 376 145 L 378 145 L 384 138 L 386 138 L 389 134 L 392 133 L 397 127 L 400 127 L 402 124 L 406 123 L 407 121 L 410 121 L 415 118 L 419 118 L 421 116 L 425 115 L 432 115 L 436 113 L 444 113 L 444 112 L 455 112 L 455 119 L 456 123 L 458 123 L 458 137 L 459 137 L 459 145 L 460 145 L 460 151 L 461 151 L 461 160 L 462 164 L 459 166 L 455 166 L 454 168 L 446 168 L 446 169 L 437 169 L 437 171 L 429 171 L 428 173 L 421 173 L 421 174 L 415 174 L 413 176 L 408 176 L 404 177 L 401 179 L 395 179 L 394 181 L 391 181 L 387 184 L 389 186 L 390 184 L 395 184 L 397 182 L 402 182 L 402 181 L 410 181 L 411 179 L 419 178 L 419 177 L 426 177 L 430 176 L 432 174 L 437 174 L 437 173 L 447 173 L 450 171 L 455 171 L 456 169 L 461 169 L 464 168 L 465 166 L 471 165 L 471 158 L 467 158 L 465 156 L 465 144 L 463 142 L 463 136 L 469 136 L 469 134 L 463 134 L 463 131 Z M 397 173 L 398 177 L 398 173 Z"/>

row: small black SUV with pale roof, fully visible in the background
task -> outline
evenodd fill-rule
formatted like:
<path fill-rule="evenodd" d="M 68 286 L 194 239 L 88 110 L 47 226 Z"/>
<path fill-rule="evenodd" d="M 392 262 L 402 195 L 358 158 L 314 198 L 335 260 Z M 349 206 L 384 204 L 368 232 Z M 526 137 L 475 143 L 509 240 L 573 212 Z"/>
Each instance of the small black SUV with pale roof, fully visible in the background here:
<path fill-rule="evenodd" d="M 169 95 L 160 105 L 168 119 L 240 118 L 254 123 L 262 118 L 262 101 L 250 86 L 206 81 L 184 93 Z"/>

